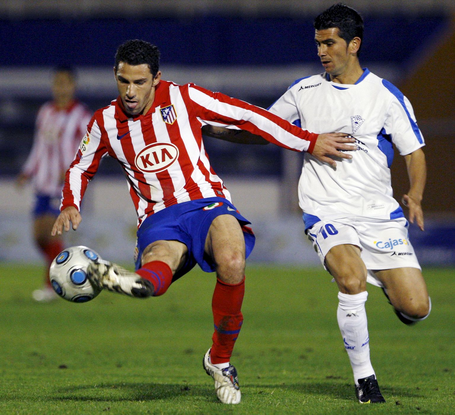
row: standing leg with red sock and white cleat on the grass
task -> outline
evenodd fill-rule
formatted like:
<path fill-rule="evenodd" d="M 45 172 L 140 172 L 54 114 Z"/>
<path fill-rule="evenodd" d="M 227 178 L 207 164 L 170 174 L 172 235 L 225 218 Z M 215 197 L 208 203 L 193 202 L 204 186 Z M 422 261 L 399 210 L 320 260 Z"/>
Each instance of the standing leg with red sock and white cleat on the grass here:
<path fill-rule="evenodd" d="M 237 370 L 229 361 L 243 323 L 245 239 L 234 216 L 219 215 L 212 221 L 204 251 L 215 264 L 217 282 L 212 297 L 213 343 L 203 365 L 215 380 L 218 398 L 237 404 L 241 399 Z"/>

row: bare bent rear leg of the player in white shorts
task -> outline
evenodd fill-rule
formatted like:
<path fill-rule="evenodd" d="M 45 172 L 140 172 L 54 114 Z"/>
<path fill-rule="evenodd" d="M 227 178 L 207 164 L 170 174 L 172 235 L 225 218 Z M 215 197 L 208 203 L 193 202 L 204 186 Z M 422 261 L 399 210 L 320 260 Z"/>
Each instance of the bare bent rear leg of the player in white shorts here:
<path fill-rule="evenodd" d="M 412 324 L 428 317 L 431 302 L 420 269 L 403 267 L 374 273 L 403 323 Z"/>

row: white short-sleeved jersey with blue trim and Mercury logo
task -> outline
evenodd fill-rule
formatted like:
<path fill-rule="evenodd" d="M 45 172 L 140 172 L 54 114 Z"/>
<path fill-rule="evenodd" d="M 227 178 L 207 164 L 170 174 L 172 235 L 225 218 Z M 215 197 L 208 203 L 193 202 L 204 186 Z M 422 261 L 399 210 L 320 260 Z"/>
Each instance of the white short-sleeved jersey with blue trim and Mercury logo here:
<path fill-rule="evenodd" d="M 314 133 L 356 139 L 353 158 L 337 159 L 336 169 L 305 154 L 298 195 L 307 229 L 319 218 L 403 216 L 390 183 L 393 144 L 405 155 L 425 143 L 398 88 L 368 69 L 354 85 L 331 82 L 323 73 L 298 79 L 269 111 Z"/>

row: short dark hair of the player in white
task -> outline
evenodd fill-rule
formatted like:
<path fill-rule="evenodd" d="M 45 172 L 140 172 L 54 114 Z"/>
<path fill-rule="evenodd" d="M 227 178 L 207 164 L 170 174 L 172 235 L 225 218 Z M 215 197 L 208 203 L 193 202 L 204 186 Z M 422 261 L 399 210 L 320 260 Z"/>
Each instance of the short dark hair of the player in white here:
<path fill-rule="evenodd" d="M 344 5 L 343 3 L 337 3 L 330 6 L 327 10 L 324 10 L 316 19 L 314 19 L 314 28 L 316 30 L 324 30 L 336 27 L 339 29 L 339 37 L 349 42 L 354 37 L 359 37 L 361 41 L 364 38 L 364 20 L 358 11 Z M 360 42 L 357 56 L 360 55 L 360 48 L 362 43 Z"/>

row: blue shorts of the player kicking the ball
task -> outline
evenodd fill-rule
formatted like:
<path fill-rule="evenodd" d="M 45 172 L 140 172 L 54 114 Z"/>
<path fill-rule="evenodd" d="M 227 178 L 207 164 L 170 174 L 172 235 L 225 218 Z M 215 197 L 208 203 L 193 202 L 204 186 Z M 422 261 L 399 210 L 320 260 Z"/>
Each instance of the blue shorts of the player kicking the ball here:
<path fill-rule="evenodd" d="M 180 241 L 188 248 L 187 261 L 176 272 L 172 281 L 185 275 L 198 264 L 202 271 L 214 272 L 212 258 L 204 254 L 205 241 L 212 221 L 219 215 L 233 215 L 242 227 L 245 238 L 245 257 L 253 251 L 255 236 L 251 224 L 229 200 L 222 197 L 191 200 L 172 205 L 150 215 L 137 231 L 136 270 L 141 267 L 141 256 L 147 246 L 155 241 Z"/>

